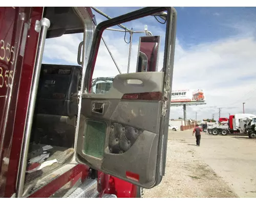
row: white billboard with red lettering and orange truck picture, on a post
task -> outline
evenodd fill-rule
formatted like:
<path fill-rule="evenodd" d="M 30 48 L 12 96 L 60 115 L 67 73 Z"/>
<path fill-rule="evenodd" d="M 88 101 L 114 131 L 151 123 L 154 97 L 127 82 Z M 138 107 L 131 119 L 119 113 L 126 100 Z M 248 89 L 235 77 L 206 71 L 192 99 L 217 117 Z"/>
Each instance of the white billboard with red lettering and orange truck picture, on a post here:
<path fill-rule="evenodd" d="M 204 91 L 203 89 L 173 90 L 170 101 L 171 103 L 202 103 L 203 101 L 205 101 Z"/>

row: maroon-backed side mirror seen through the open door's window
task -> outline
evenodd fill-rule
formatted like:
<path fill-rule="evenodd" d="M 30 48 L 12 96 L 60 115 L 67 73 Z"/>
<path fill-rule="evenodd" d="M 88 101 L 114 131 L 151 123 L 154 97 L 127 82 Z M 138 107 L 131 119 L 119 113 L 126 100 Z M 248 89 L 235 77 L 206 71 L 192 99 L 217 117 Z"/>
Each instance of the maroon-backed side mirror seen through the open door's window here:
<path fill-rule="evenodd" d="M 160 36 L 140 37 L 136 72 L 157 71 Z"/>

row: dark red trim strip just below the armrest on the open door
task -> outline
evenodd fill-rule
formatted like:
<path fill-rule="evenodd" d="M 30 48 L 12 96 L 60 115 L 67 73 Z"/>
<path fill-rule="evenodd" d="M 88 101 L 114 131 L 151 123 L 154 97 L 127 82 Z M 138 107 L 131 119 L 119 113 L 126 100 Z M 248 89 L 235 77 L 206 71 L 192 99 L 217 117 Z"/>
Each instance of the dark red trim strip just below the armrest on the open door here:
<path fill-rule="evenodd" d="M 162 92 L 126 93 L 122 99 L 127 100 L 162 100 Z"/>

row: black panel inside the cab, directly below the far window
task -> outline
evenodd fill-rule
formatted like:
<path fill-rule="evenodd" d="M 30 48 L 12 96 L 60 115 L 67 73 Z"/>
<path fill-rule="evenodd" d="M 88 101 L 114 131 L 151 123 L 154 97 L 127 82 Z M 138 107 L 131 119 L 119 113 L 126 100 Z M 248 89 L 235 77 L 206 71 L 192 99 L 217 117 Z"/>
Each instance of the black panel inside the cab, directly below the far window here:
<path fill-rule="evenodd" d="M 80 66 L 42 64 L 34 112 L 34 142 L 73 146 L 81 73 Z"/>

